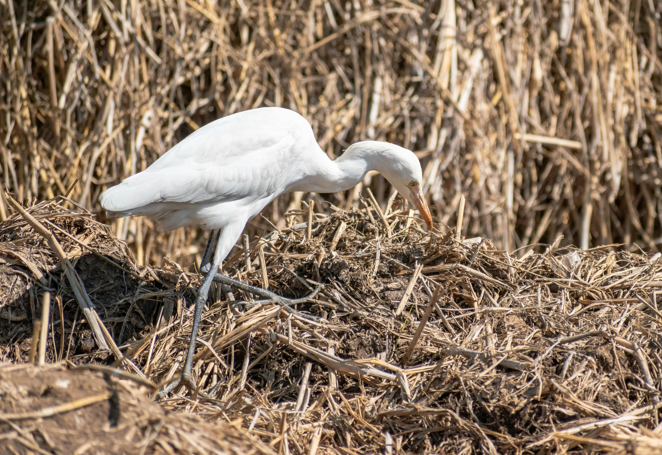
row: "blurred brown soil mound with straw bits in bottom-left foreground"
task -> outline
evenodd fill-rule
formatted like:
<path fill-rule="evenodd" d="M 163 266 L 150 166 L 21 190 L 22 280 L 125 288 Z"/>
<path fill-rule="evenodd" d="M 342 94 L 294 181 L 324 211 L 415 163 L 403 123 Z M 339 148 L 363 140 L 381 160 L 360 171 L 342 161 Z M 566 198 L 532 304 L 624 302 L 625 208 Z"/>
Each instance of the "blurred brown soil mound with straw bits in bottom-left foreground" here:
<path fill-rule="evenodd" d="M 228 423 L 167 411 L 133 381 L 61 366 L 0 366 L 0 434 L 3 454 L 273 453 Z"/>

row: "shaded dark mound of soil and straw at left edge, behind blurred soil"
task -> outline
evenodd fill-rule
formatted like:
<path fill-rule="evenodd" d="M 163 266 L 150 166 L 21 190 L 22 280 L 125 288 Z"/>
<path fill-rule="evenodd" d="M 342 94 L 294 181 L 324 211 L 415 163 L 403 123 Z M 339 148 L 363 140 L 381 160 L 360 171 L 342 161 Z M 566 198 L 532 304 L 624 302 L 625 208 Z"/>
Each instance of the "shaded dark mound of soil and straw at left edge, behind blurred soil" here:
<path fill-rule="evenodd" d="M 43 201 L 27 212 L 52 233 L 68 264 L 21 213 L 0 223 L 3 360 L 28 360 L 32 327 L 42 314 L 40 295 L 50 291 L 51 333 L 57 342 L 46 352 L 46 360 L 112 362 L 111 346 L 117 350 L 117 344 L 151 325 L 158 316 L 156 304 L 173 292 L 151 268 L 138 270 L 126 244 L 70 199 Z M 105 349 L 99 350 L 101 346 Z"/>

